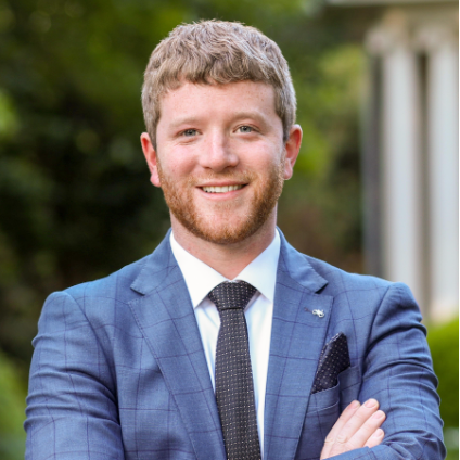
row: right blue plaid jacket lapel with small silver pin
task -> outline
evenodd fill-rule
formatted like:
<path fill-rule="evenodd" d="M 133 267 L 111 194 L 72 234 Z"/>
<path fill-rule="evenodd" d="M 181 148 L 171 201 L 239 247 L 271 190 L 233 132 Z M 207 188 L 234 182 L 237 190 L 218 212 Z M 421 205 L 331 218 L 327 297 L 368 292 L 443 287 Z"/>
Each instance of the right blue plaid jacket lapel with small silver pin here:
<path fill-rule="evenodd" d="M 306 257 L 281 238 L 265 403 L 265 460 L 294 459 L 333 297 Z M 320 318 L 315 309 L 322 310 Z"/>

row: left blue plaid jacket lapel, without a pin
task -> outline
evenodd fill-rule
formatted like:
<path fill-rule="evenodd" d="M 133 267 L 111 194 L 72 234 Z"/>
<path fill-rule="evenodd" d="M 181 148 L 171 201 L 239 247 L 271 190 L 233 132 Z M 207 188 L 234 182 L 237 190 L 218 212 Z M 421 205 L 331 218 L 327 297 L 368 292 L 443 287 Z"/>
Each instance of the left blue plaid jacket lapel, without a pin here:
<path fill-rule="evenodd" d="M 209 371 L 169 234 L 148 258 L 131 289 L 143 297 L 130 308 L 162 370 L 197 459 L 225 459 Z"/>

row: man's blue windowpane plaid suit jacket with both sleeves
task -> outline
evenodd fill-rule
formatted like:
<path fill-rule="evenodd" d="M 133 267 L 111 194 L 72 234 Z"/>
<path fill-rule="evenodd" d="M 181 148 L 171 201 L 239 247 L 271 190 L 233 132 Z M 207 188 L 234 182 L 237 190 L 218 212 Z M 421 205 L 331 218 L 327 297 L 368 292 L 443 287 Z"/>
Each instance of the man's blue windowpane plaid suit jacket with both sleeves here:
<path fill-rule="evenodd" d="M 312 310 L 324 311 L 324 317 Z M 265 409 L 265 459 L 318 459 L 353 400 L 376 398 L 385 439 L 350 459 L 443 459 L 425 330 L 403 284 L 346 273 L 282 237 Z M 352 367 L 310 394 L 324 344 Z M 190 296 L 166 238 L 112 276 L 52 294 L 34 340 L 28 460 L 223 460 L 219 417 Z"/>

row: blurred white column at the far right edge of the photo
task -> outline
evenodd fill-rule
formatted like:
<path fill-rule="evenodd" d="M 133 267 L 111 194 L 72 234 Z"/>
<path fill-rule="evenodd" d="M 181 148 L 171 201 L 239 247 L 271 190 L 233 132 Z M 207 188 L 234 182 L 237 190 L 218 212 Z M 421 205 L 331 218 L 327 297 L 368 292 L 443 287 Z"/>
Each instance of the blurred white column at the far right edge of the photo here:
<path fill-rule="evenodd" d="M 427 38 L 430 309 L 445 320 L 459 305 L 458 49 L 445 30 Z"/>

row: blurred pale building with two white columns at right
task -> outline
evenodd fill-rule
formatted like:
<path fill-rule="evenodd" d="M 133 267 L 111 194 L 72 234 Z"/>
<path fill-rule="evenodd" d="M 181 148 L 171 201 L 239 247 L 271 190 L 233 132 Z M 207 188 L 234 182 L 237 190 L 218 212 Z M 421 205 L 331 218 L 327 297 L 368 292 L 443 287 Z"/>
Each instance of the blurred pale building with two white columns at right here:
<path fill-rule="evenodd" d="M 372 10 L 362 40 L 368 271 L 412 290 L 425 318 L 459 307 L 457 1 L 331 0 Z"/>

